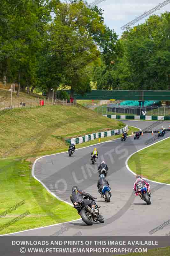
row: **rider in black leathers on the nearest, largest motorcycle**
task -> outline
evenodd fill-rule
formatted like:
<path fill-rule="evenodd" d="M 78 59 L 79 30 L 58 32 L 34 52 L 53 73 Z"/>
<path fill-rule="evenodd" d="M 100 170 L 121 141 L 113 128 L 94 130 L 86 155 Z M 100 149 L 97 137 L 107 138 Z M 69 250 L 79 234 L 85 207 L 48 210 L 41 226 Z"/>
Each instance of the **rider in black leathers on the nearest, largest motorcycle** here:
<path fill-rule="evenodd" d="M 83 199 L 83 196 L 87 196 L 87 197 L 90 198 L 91 200 L 89 200 L 89 199 Z M 78 204 L 79 202 L 84 201 L 85 205 L 90 206 L 90 207 L 92 208 L 92 210 L 94 210 L 94 213 L 95 213 L 96 210 L 95 210 L 95 203 L 94 203 L 93 199 L 94 199 L 94 198 L 93 198 L 90 194 L 88 194 L 88 193 L 86 193 L 86 192 L 84 192 L 84 191 L 82 191 L 82 190 L 79 190 L 78 187 L 74 186 L 74 187 L 72 188 L 72 194 L 70 195 L 70 200 L 71 200 L 71 202 L 72 202 L 74 205 L 76 205 L 76 204 Z M 98 211 L 97 211 L 97 212 L 98 212 Z M 78 214 L 79 214 L 79 212 L 78 212 Z"/>

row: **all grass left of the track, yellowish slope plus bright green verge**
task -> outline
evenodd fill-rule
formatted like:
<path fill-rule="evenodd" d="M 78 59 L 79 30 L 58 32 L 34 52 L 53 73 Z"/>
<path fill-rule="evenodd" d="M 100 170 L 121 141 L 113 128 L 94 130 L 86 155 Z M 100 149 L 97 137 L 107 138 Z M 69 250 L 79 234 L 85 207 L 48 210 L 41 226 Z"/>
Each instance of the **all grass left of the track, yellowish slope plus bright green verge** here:
<path fill-rule="evenodd" d="M 36 156 L 67 150 L 65 137 L 117 129 L 124 125 L 117 120 L 94 115 L 93 111 L 81 106 L 6 110 L 0 111 L 0 115 L 0 214 L 25 200 L 25 204 L 0 218 L 0 234 L 79 218 L 75 209 L 51 196 L 33 179 L 30 161 Z M 103 138 L 102 141 L 116 137 L 120 135 Z M 83 143 L 77 148 L 97 142 Z M 28 216 L 3 227 L 26 211 L 30 212 Z"/>

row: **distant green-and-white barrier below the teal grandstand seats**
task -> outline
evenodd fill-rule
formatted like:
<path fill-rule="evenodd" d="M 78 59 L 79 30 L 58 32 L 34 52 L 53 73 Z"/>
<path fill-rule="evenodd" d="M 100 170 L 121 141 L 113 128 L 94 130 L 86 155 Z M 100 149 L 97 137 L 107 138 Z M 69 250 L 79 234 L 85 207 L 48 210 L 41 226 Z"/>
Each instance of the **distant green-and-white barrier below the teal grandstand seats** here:
<path fill-rule="evenodd" d="M 130 119 L 130 120 L 170 120 L 170 116 L 116 116 L 116 115 L 102 115 L 112 119 Z"/>

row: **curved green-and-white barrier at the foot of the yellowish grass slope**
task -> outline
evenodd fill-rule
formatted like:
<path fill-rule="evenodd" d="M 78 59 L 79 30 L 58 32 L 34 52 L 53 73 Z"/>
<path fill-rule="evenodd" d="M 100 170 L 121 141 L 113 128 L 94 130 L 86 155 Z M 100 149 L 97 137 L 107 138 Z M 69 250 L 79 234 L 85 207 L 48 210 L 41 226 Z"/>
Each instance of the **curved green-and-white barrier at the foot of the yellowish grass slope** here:
<path fill-rule="evenodd" d="M 78 138 L 72 138 L 72 139 L 65 139 L 67 143 L 74 143 L 74 144 L 81 144 L 90 140 L 95 140 L 97 138 L 104 138 L 104 137 L 110 137 L 116 134 L 121 134 L 122 132 L 128 131 L 128 125 L 121 129 L 107 131 L 107 132 L 96 132 L 92 134 L 87 134 L 82 137 Z"/>

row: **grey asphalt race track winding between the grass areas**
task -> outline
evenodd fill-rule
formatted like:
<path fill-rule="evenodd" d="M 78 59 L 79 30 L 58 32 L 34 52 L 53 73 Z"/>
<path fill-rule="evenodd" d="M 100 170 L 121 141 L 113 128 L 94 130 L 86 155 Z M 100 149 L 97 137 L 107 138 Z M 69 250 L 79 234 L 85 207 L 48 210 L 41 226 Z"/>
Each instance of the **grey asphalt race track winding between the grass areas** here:
<path fill-rule="evenodd" d="M 123 122 L 141 129 L 154 123 L 150 121 L 125 120 Z M 154 129 L 160 128 L 161 125 L 169 128 L 169 124 L 169 122 L 163 122 Z M 163 139 L 169 136 L 167 132 Z M 126 168 L 125 162 L 129 155 L 141 148 L 145 148 L 147 146 L 145 144 L 146 140 L 152 137 L 152 134 L 144 134 L 139 140 L 134 140 L 133 136 L 130 136 L 125 142 L 121 142 L 121 139 L 118 139 L 96 145 L 100 157 L 95 165 L 92 165 L 90 161 L 90 153 L 94 146 L 78 149 L 72 157 L 69 157 L 67 153 L 61 153 L 40 158 L 34 166 L 36 178 L 41 180 L 56 196 L 68 203 L 71 203 L 70 194 L 73 185 L 77 185 L 79 189 L 97 197 L 105 223 L 97 222 L 89 227 L 82 220 L 76 220 L 13 235 L 149 236 L 150 230 L 169 220 L 170 186 L 150 182 L 152 192 L 151 205 L 146 205 L 132 191 L 135 176 Z M 159 140 L 161 139 L 157 139 L 155 142 Z M 97 191 L 97 167 L 101 160 L 104 160 L 109 167 L 107 179 L 110 182 L 113 195 L 110 203 L 105 203 Z M 137 166 L 138 174 L 141 174 L 140 158 Z M 61 221 L 64 222 L 65 220 L 61 219 Z M 169 231 L 170 226 L 167 225 L 150 236 L 165 236 Z"/>

